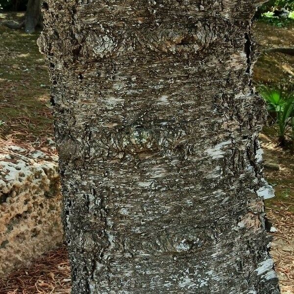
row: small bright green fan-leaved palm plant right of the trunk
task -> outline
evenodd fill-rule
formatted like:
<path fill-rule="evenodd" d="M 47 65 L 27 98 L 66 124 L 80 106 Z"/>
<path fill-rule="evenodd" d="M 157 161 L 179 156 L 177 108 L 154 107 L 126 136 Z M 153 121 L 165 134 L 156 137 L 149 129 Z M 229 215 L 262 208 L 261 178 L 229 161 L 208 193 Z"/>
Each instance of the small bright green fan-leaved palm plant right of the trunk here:
<path fill-rule="evenodd" d="M 284 145 L 289 127 L 292 127 L 292 137 L 294 138 L 294 95 L 287 95 L 281 90 L 265 86 L 260 88 L 260 94 L 267 102 L 269 114 L 278 126 L 280 144 Z"/>

